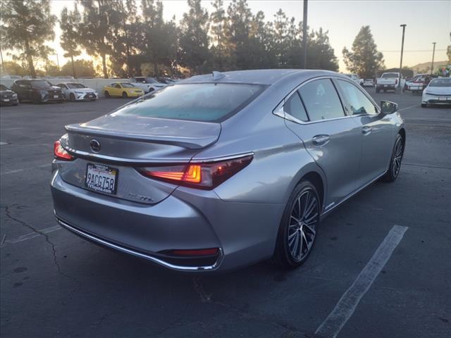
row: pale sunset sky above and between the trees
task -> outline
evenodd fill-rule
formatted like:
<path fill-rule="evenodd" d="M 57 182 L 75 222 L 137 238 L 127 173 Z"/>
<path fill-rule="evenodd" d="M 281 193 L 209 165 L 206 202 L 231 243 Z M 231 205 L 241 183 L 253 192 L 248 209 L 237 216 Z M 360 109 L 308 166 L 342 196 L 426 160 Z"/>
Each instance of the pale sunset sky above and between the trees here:
<path fill-rule="evenodd" d="M 59 17 L 63 7 L 73 8 L 73 0 L 51 0 L 51 11 Z M 136 1 L 140 4 L 140 0 Z M 225 0 L 227 8 L 230 1 Z M 302 20 L 302 0 L 248 0 L 252 13 L 263 11 L 265 20 L 273 20 L 273 15 L 282 8 L 288 17 Z M 212 10 L 210 0 L 202 0 L 202 6 L 209 13 Z M 187 11 L 185 0 L 163 0 L 163 15 L 166 20 L 179 21 Z M 402 39 L 401 24 L 406 24 L 404 37 L 403 65 L 416 65 L 432 59 L 432 42 L 435 45 L 435 61 L 447 60 L 446 48 L 451 32 L 450 0 L 309 0 L 307 23 L 310 29 L 328 30 L 330 45 L 338 57 L 340 71 L 345 71 L 342 49 L 351 48 L 354 37 L 364 25 L 371 27 L 378 50 L 383 52 L 387 68 L 399 67 Z M 57 25 L 58 26 L 58 25 Z M 59 27 L 56 26 L 56 39 L 52 46 L 62 65 L 63 50 L 58 43 Z M 88 58 L 89 56 L 84 55 Z M 51 56 L 56 61 L 56 56 Z"/>

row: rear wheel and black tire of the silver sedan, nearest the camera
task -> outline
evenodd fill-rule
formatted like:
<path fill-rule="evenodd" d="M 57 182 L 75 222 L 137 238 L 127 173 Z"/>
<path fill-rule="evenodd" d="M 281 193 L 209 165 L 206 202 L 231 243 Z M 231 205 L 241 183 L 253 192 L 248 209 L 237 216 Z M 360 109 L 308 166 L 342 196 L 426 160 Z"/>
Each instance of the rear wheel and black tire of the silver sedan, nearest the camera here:
<path fill-rule="evenodd" d="M 306 208 L 311 209 L 311 212 L 306 212 Z M 302 180 L 292 191 L 283 211 L 271 263 L 290 270 L 307 260 L 314 246 L 320 211 L 321 202 L 316 187 L 311 182 Z M 293 252 L 297 251 L 299 256 L 295 257 Z"/>

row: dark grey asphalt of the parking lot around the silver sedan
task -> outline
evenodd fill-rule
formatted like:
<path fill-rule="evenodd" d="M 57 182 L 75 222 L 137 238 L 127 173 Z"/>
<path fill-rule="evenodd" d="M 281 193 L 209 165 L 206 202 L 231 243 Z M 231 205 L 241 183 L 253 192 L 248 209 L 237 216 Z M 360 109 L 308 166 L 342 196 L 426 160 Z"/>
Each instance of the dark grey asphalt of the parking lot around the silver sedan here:
<path fill-rule="evenodd" d="M 395 225 L 404 236 L 337 337 L 451 337 L 451 108 L 367 90 L 400 104 L 400 177 L 333 211 L 309 260 L 288 272 L 263 262 L 172 273 L 61 230 L 49 189 L 53 142 L 64 125 L 125 101 L 2 107 L 1 337 L 321 337 Z"/>

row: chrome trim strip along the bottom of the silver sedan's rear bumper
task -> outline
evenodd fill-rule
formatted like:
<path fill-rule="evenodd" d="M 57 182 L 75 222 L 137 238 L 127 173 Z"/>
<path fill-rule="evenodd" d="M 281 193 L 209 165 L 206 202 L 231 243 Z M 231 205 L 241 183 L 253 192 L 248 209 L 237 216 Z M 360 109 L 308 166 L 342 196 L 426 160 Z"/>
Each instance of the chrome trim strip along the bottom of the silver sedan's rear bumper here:
<path fill-rule="evenodd" d="M 56 214 L 55 214 L 56 215 Z M 104 239 L 100 239 L 98 237 L 94 237 L 91 234 L 87 234 L 86 232 L 83 232 L 81 230 L 76 229 L 75 227 L 68 225 L 68 223 L 64 222 L 63 220 L 60 220 L 58 218 L 58 216 L 56 216 L 56 220 L 58 221 L 58 224 L 61 225 L 62 227 L 66 228 L 67 230 L 71 231 L 71 232 L 75 232 L 75 234 L 79 234 L 82 237 L 86 237 L 87 239 L 92 240 L 92 242 L 97 242 L 99 244 L 102 244 L 104 246 L 108 246 L 111 249 L 115 249 L 118 251 L 122 251 L 124 253 L 128 253 L 130 255 L 133 256 L 137 256 L 140 258 L 144 258 L 147 259 L 149 261 L 152 261 L 154 263 L 157 263 L 159 265 L 163 265 L 163 267 L 165 268 L 170 268 L 172 270 L 178 270 L 178 271 L 205 271 L 205 270 L 216 270 L 218 268 L 218 266 L 221 264 L 222 260 L 223 260 L 223 250 L 221 248 L 219 248 L 219 257 L 218 260 L 216 261 L 216 263 L 214 263 L 214 265 L 207 265 L 207 266 L 180 266 L 180 265 L 173 265 L 171 263 L 167 263 L 165 261 L 162 261 L 159 258 L 155 258 L 153 256 L 149 256 L 146 255 L 144 253 L 138 252 L 138 251 L 133 251 L 127 248 L 124 248 L 123 246 L 118 246 L 117 244 L 113 244 L 111 242 L 107 242 Z"/>

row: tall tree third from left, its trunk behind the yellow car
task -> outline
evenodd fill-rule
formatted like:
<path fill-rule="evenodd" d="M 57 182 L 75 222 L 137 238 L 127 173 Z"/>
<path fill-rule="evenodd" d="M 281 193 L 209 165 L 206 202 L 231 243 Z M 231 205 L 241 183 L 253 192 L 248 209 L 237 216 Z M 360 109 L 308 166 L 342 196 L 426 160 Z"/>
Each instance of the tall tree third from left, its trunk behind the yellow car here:
<path fill-rule="evenodd" d="M 78 4 L 83 7 L 79 42 L 89 55 L 101 57 L 102 73 L 107 79 L 106 56 L 111 54 L 113 31 L 120 23 L 118 15 L 114 15 L 117 1 L 78 0 Z"/>

